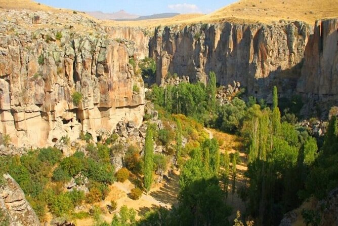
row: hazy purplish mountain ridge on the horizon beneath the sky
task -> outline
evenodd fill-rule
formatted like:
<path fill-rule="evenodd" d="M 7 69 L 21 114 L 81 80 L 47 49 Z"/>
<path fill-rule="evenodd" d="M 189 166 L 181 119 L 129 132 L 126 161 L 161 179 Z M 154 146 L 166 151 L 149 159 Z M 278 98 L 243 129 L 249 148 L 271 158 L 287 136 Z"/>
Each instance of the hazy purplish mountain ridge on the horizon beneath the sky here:
<path fill-rule="evenodd" d="M 116 21 L 151 20 L 151 19 L 171 18 L 180 15 L 179 13 L 159 13 L 150 16 L 139 16 L 136 14 L 130 14 L 128 12 L 125 12 L 124 10 L 120 10 L 115 13 L 103 13 L 101 11 L 93 11 L 87 12 L 87 14 L 100 20 L 116 20 Z"/>

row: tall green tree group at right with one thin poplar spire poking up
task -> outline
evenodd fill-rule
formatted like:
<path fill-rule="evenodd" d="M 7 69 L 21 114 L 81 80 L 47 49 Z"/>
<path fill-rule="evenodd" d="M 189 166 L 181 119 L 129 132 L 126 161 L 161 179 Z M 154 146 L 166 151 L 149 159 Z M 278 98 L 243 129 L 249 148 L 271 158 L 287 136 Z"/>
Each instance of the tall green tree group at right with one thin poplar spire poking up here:
<path fill-rule="evenodd" d="M 242 135 L 248 143 L 250 214 L 260 224 L 278 224 L 302 201 L 299 192 L 317 157 L 316 139 L 304 128 L 281 123 L 276 87 L 272 109 L 257 104 L 248 108 Z"/>

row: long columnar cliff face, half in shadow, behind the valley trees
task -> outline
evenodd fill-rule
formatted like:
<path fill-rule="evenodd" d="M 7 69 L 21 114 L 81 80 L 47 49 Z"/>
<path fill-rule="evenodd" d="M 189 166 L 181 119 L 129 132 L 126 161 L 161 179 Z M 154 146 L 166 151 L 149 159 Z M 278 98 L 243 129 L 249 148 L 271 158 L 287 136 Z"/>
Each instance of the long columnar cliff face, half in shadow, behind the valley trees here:
<path fill-rule="evenodd" d="M 168 72 L 205 82 L 206 74 L 215 71 L 219 84 L 238 81 L 249 94 L 266 97 L 273 85 L 285 93 L 295 89 L 300 77 L 310 32 L 302 22 L 159 28 L 150 41 L 156 82 L 162 83 Z"/>

